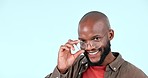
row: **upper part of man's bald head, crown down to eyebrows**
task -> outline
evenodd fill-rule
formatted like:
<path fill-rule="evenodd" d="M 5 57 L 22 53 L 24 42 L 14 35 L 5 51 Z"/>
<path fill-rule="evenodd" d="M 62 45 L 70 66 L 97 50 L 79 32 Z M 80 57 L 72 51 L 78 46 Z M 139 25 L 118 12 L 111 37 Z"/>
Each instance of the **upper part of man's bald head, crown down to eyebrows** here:
<path fill-rule="evenodd" d="M 110 28 L 108 17 L 98 11 L 86 13 L 79 22 L 78 35 L 81 38 L 82 36 L 83 38 L 86 36 L 87 38 L 91 38 L 91 36 L 96 34 L 102 36 L 108 31 L 113 33 L 113 30 Z"/>

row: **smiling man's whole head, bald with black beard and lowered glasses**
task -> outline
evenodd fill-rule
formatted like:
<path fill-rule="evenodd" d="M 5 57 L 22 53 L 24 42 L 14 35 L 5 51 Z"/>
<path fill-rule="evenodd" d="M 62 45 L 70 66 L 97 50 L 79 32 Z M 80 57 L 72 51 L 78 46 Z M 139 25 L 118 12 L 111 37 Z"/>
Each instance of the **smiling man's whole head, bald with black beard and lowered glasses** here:
<path fill-rule="evenodd" d="M 89 65 L 107 65 L 110 63 L 107 63 L 106 57 L 109 59 L 112 57 L 110 40 L 114 37 L 114 31 L 110 29 L 105 14 L 97 11 L 86 13 L 79 22 L 78 37 L 81 41 L 80 47 L 85 50 L 84 55 Z"/>

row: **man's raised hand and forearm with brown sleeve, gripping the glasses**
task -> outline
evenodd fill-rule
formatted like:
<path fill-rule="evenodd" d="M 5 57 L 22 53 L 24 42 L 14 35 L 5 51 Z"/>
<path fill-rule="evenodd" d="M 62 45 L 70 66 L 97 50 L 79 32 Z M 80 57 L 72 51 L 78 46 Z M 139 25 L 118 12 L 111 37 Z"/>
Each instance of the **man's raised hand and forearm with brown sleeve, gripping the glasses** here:
<path fill-rule="evenodd" d="M 75 50 L 73 45 L 77 43 L 79 43 L 79 40 L 68 40 L 65 45 L 61 45 L 58 52 L 58 65 L 53 73 L 45 78 L 68 78 L 68 69 L 73 65 L 76 58 L 84 52 L 84 50 L 79 50 L 75 54 L 71 53 L 71 50 Z"/>

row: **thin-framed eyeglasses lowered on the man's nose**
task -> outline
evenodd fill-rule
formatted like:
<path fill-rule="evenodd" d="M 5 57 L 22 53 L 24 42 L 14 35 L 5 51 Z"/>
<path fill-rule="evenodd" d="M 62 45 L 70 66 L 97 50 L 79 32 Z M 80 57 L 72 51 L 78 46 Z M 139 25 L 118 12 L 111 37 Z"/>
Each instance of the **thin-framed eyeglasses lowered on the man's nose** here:
<path fill-rule="evenodd" d="M 92 37 L 90 43 L 93 46 L 98 45 L 102 41 L 102 39 L 105 37 L 106 34 L 107 34 L 107 32 L 105 32 L 105 34 L 103 36 L 96 35 L 96 36 Z M 88 43 L 85 40 L 80 40 L 80 47 L 81 48 L 86 48 L 87 45 L 88 45 Z"/>

